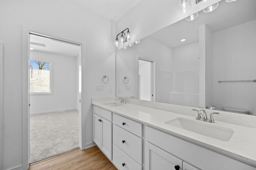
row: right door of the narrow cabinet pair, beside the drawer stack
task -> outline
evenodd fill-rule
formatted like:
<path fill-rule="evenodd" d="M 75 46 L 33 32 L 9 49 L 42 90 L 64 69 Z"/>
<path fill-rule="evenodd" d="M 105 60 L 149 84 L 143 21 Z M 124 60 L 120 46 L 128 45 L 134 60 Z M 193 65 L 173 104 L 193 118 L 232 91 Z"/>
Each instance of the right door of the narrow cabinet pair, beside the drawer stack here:
<path fill-rule="evenodd" d="M 112 123 L 102 119 L 102 151 L 108 158 L 112 159 Z"/>

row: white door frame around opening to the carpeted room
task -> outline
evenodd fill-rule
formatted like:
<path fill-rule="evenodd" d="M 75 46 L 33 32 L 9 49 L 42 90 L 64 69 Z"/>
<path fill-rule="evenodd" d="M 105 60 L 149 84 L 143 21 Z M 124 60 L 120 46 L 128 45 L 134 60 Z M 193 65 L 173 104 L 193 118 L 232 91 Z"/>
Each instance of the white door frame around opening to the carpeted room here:
<path fill-rule="evenodd" d="M 29 59 L 30 59 L 30 33 L 35 33 L 37 35 L 42 35 L 60 41 L 67 41 L 70 43 L 75 43 L 80 45 L 80 55 L 78 56 L 80 64 L 78 66 L 78 108 L 79 108 L 79 147 L 81 150 L 85 149 L 85 133 L 82 127 L 85 127 L 85 121 L 82 121 L 82 67 L 84 63 L 84 54 L 85 54 L 85 42 L 81 40 L 67 40 L 62 38 L 57 38 L 58 33 L 52 32 L 50 30 L 46 31 L 45 29 L 39 29 L 35 27 L 29 27 L 27 25 L 22 25 L 22 166 L 23 169 L 29 168 L 29 158 L 30 158 L 30 115 L 29 115 Z M 64 37 L 64 36 L 61 36 Z M 65 38 L 65 37 L 64 37 Z"/>

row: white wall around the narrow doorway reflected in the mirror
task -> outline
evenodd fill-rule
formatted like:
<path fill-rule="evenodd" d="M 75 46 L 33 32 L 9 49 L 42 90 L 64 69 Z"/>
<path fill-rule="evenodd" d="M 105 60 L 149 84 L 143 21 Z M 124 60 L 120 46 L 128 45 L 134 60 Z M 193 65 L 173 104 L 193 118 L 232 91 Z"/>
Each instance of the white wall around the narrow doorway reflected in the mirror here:
<path fill-rule="evenodd" d="M 145 38 L 140 41 L 139 44 L 134 45 L 128 49 L 121 49 L 117 53 L 117 68 L 116 68 L 116 84 L 117 84 L 117 96 L 135 96 L 138 97 L 137 90 L 138 83 L 138 58 L 147 59 L 149 61 L 154 61 L 154 71 L 155 71 L 155 89 L 154 92 L 156 101 L 159 101 L 159 74 L 160 70 L 170 71 L 172 63 L 172 49 L 162 43 L 154 41 L 150 38 Z M 126 72 L 126 74 L 122 74 Z M 118 93 L 118 88 L 124 86 L 122 79 L 125 75 L 129 74 L 129 84 L 131 84 L 131 90 L 123 93 Z M 121 76 L 122 75 L 122 76 Z M 136 88 L 136 89 L 134 89 Z"/>

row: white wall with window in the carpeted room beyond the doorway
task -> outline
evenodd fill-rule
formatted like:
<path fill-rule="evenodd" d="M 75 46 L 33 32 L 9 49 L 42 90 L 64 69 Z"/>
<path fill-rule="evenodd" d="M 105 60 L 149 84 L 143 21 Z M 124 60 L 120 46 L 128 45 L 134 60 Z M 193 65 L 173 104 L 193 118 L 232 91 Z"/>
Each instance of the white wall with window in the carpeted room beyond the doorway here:
<path fill-rule="evenodd" d="M 77 109 L 77 57 L 30 50 L 30 59 L 52 62 L 52 94 L 30 95 L 30 114 Z"/>

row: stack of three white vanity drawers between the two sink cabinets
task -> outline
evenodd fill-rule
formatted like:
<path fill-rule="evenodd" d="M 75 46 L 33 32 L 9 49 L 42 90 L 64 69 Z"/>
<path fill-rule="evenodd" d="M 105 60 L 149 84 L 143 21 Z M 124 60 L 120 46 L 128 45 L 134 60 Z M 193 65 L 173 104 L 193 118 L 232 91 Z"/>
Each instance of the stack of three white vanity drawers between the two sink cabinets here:
<path fill-rule="evenodd" d="M 142 124 L 113 114 L 113 162 L 120 170 L 142 170 Z"/>

